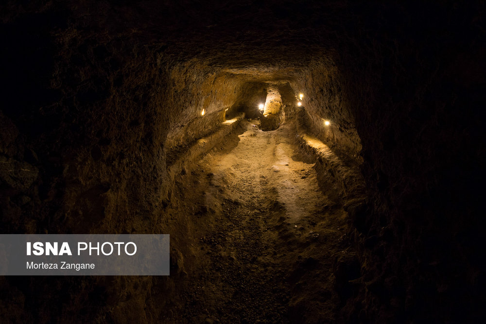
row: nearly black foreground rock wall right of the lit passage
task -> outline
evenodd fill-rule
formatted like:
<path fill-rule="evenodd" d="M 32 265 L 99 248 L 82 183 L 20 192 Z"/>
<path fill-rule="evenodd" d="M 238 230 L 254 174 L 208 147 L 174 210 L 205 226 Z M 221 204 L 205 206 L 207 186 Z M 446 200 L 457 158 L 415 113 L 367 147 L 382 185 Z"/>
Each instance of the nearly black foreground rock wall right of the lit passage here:
<path fill-rule="evenodd" d="M 355 320 L 482 322 L 481 6 L 364 10 L 373 19 L 356 30 L 371 33 L 344 37 L 336 57 L 368 188 L 350 212 L 365 287 Z"/>

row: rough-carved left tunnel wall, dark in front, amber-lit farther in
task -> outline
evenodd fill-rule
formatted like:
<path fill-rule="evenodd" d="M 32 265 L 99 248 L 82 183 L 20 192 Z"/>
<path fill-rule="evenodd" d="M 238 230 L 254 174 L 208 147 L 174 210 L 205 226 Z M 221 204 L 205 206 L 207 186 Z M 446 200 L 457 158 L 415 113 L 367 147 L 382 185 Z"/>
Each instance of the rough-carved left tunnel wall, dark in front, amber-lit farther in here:
<path fill-rule="evenodd" d="M 2 41 L 10 44 L 1 53 L 9 80 L 0 111 L 2 232 L 191 236 L 167 153 L 215 131 L 225 109 L 248 95 L 240 91 L 244 81 L 164 55 L 137 33 L 107 36 L 109 22 L 93 32 L 84 24 L 100 21 L 79 16 L 96 8 L 36 5 L 2 17 Z M 1 277 L 0 318 L 156 321 L 182 275 L 179 250 L 190 254 L 184 241 L 171 246 L 171 277 Z"/>

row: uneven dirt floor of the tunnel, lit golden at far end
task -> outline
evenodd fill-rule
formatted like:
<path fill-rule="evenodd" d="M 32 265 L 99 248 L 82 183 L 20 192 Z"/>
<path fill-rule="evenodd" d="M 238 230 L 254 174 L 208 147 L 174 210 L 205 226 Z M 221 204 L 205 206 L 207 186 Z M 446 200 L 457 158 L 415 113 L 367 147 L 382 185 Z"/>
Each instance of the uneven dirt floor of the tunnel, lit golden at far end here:
<path fill-rule="evenodd" d="M 323 195 L 292 124 L 263 132 L 243 120 L 237 133 L 186 177 L 195 239 L 177 288 L 185 305 L 167 320 L 339 321 L 333 266 L 349 253 L 346 212 Z"/>

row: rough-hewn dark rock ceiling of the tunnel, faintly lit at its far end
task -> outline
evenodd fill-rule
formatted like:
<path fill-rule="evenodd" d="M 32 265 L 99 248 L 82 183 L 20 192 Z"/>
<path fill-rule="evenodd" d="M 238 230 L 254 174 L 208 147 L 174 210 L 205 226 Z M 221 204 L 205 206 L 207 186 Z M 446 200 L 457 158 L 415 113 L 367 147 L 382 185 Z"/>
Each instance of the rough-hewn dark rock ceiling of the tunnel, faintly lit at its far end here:
<path fill-rule="evenodd" d="M 118 40 L 120 47 L 149 46 L 175 62 L 197 58 L 209 67 L 281 80 L 292 79 L 313 60 L 346 60 L 346 55 L 363 51 L 357 38 L 370 48 L 385 39 L 384 51 L 402 39 L 425 44 L 422 29 L 443 24 L 439 14 L 446 19 L 456 14 L 434 2 L 421 9 L 417 13 L 412 4 L 345 0 L 30 1 L 11 3 L 1 18 L 8 23 L 41 14 L 36 18 L 39 30 L 63 33 L 64 38 L 100 44 Z M 436 15 L 427 17 L 427 12 Z"/>

